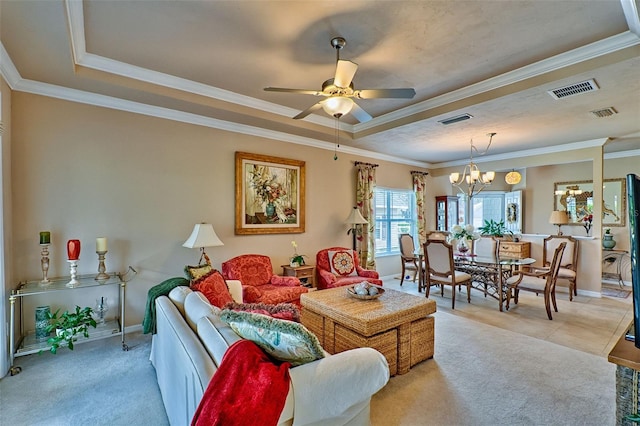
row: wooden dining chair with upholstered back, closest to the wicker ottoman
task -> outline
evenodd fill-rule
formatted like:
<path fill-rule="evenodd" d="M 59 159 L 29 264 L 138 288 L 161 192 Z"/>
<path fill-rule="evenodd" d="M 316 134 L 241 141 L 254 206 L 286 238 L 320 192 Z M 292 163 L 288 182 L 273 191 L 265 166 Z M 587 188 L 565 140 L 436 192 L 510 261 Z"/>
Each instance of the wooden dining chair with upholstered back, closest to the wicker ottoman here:
<path fill-rule="evenodd" d="M 471 275 L 457 271 L 453 262 L 453 246 L 444 240 L 427 240 L 424 243 L 425 287 L 426 297 L 432 285 L 451 286 L 451 309 L 456 306 L 456 286 L 467 286 L 467 303 L 471 303 Z"/>

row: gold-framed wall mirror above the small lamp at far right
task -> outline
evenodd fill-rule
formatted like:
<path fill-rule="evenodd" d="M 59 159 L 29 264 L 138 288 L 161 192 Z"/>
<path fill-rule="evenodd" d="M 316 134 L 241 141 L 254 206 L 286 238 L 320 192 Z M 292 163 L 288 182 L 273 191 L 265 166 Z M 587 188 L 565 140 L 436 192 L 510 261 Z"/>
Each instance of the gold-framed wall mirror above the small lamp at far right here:
<path fill-rule="evenodd" d="M 569 225 L 582 225 L 582 219 L 593 213 L 593 181 L 556 182 L 553 189 L 553 209 L 566 211 Z M 605 179 L 602 195 L 602 226 L 625 226 L 624 179 Z"/>

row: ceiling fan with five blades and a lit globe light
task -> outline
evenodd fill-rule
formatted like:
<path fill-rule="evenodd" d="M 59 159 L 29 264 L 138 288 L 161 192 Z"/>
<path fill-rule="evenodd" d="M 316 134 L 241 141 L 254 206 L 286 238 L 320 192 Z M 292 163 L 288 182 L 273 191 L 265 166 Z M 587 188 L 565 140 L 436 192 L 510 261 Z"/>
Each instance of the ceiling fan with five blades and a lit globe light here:
<path fill-rule="evenodd" d="M 340 59 L 340 50 L 346 46 L 346 44 L 347 41 L 342 37 L 334 37 L 331 39 L 331 46 L 336 49 L 336 74 L 333 78 L 322 83 L 322 90 L 287 89 L 282 87 L 265 87 L 264 90 L 268 92 L 301 93 L 304 95 L 324 96 L 326 98 L 293 117 L 296 120 L 304 118 L 322 108 L 327 114 L 335 118 L 340 118 L 351 112 L 361 123 L 371 120 L 372 117 L 355 103 L 352 98 L 412 99 L 416 95 L 416 91 L 412 88 L 355 90 L 352 80 L 358 70 L 358 64 Z"/>

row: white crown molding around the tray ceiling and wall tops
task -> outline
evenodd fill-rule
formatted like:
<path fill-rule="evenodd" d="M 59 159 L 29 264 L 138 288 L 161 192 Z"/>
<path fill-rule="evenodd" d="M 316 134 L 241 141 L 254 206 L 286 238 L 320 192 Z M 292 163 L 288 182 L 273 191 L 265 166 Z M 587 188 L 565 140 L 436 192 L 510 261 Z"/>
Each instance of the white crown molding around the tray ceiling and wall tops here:
<path fill-rule="evenodd" d="M 634 46 L 640 43 L 640 20 L 638 19 L 638 9 L 634 3 L 634 0 L 621 0 L 625 17 L 631 31 L 626 31 L 616 36 L 609 37 L 607 39 L 600 40 L 598 42 L 591 43 L 589 45 L 574 49 L 563 54 L 556 55 L 551 58 L 539 61 L 537 63 L 522 67 L 520 69 L 484 80 L 471 86 L 467 86 L 446 95 L 438 96 L 418 104 L 400 109 L 398 111 L 376 117 L 367 123 L 360 123 L 356 125 L 350 125 L 348 123 L 341 123 L 342 130 L 353 133 L 354 130 L 360 131 L 369 127 L 375 127 L 377 125 L 396 120 L 398 118 L 405 117 L 407 115 L 415 114 L 428 110 L 434 107 L 448 104 L 469 96 L 473 96 L 478 93 L 486 92 L 488 90 L 496 89 L 507 84 L 512 84 L 527 78 L 534 77 L 536 75 L 553 71 L 559 68 L 563 68 L 575 63 L 586 61 L 588 59 L 596 58 L 598 56 L 611 53 L 616 50 L 624 49 L 630 46 Z M 205 85 L 202 83 L 194 82 L 191 80 L 179 78 L 169 74 L 164 74 L 156 71 L 151 71 L 145 68 L 137 67 L 131 64 L 126 64 L 120 61 L 115 61 L 109 58 L 104 58 L 99 55 L 86 52 L 85 43 L 85 28 L 84 28 L 84 9 L 82 0 L 65 0 L 65 10 L 67 13 L 67 22 L 69 27 L 70 43 L 72 48 L 72 56 L 76 66 L 83 66 L 87 68 L 96 69 L 99 71 L 112 73 L 115 75 L 123 76 L 126 78 L 134 78 L 147 83 L 157 84 L 176 90 L 181 90 L 189 93 L 195 93 L 202 96 L 218 99 L 225 102 L 235 103 L 250 108 L 266 111 L 269 113 L 283 115 L 291 117 L 298 113 L 297 110 L 283 107 L 271 102 L 262 101 L 249 96 L 239 95 L 224 89 L 219 89 L 213 86 Z M 76 89 L 65 88 L 61 86 L 50 85 L 46 83 L 36 82 L 33 80 L 23 79 L 18 70 L 15 68 L 13 61 L 6 52 L 4 46 L 0 42 L 0 72 L 7 81 L 7 84 L 12 90 L 23 91 L 36 95 L 48 96 L 58 98 L 62 100 L 68 100 L 71 102 L 78 102 L 88 105 L 101 106 L 105 108 L 132 112 L 136 114 L 142 114 L 152 117 L 158 117 L 173 121 L 179 121 L 184 123 L 190 123 L 210 128 L 216 128 L 220 130 L 226 130 L 235 133 L 242 133 L 248 135 L 254 135 L 258 137 L 264 137 L 268 139 L 285 141 L 289 143 L 310 146 L 325 150 L 334 150 L 334 144 L 324 142 L 316 139 L 300 137 L 296 135 L 290 135 L 283 132 L 277 132 L 267 129 L 261 129 L 254 126 L 248 126 L 243 124 L 232 123 L 211 117 L 200 116 L 197 114 L 186 113 L 177 110 L 171 110 L 162 107 L 156 107 L 146 105 L 138 102 L 113 98 L 109 96 L 99 95 L 90 92 L 84 92 Z M 306 121 L 313 122 L 318 125 L 333 127 L 335 121 L 329 117 L 323 117 L 319 115 L 311 115 L 305 119 Z M 606 139 L 604 140 L 606 141 Z M 523 155 L 540 155 L 549 153 L 566 152 L 575 149 L 589 148 L 592 146 L 602 145 L 604 142 L 601 139 L 593 141 L 583 141 L 570 144 L 559 145 L 555 147 L 538 148 L 533 150 L 520 151 L 517 154 L 500 154 L 494 156 L 486 156 L 475 159 L 476 162 L 488 162 L 497 160 L 509 160 L 522 157 Z M 378 160 L 385 160 L 399 164 L 407 164 L 422 168 L 444 168 L 450 166 L 458 166 L 466 164 L 467 161 L 460 160 L 454 162 L 445 162 L 430 164 L 415 160 L 409 160 L 405 158 L 398 158 L 386 154 L 375 153 L 359 148 L 352 148 L 343 146 L 340 148 L 340 152 L 348 153 L 352 155 L 366 156 Z M 635 151 L 631 151 L 635 152 Z M 632 154 L 636 155 L 636 154 Z M 605 154 L 605 158 L 618 158 L 614 156 L 628 156 L 626 153 L 611 153 Z"/>

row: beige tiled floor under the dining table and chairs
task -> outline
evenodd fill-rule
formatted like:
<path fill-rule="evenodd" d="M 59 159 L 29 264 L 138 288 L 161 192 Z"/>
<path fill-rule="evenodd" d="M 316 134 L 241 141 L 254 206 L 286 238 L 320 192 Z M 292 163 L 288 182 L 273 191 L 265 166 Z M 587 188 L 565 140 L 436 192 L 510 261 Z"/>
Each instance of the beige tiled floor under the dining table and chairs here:
<path fill-rule="evenodd" d="M 383 277 L 384 287 L 418 293 L 417 283 L 405 280 L 402 287 L 400 279 L 394 276 Z M 605 284 L 618 288 L 617 284 Z M 630 290 L 630 287 L 625 287 Z M 471 303 L 467 303 L 466 289 L 456 290 L 456 307 L 451 309 L 451 289 L 445 288 L 444 297 L 440 289 L 431 288 L 429 296 L 435 300 L 439 312 L 459 315 L 474 321 L 511 330 L 583 352 L 606 357 L 620 336 L 633 320 L 632 296 L 627 298 L 588 297 L 578 295 L 569 301 L 569 294 L 558 292 L 556 301 L 558 312 L 553 313 L 549 321 L 542 295 L 520 292 L 518 305 L 513 304 L 509 311 L 500 312 L 498 301 L 490 296 L 484 297 L 479 290 L 471 290 Z M 436 329 L 438 317 L 436 312 Z"/>

